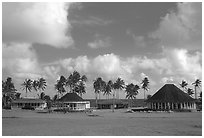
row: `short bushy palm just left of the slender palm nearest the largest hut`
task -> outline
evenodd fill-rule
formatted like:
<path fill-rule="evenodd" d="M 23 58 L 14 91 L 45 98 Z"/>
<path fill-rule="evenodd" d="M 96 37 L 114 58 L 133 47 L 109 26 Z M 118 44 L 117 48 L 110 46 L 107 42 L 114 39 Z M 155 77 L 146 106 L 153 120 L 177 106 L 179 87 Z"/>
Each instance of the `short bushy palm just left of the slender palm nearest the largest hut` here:
<path fill-rule="evenodd" d="M 127 93 L 126 98 L 132 99 L 132 102 L 133 102 L 133 99 L 136 98 L 139 89 L 140 87 L 138 85 L 134 85 L 133 83 L 128 84 L 125 89 Z M 132 104 L 130 104 L 130 107 L 132 107 L 131 105 Z"/>

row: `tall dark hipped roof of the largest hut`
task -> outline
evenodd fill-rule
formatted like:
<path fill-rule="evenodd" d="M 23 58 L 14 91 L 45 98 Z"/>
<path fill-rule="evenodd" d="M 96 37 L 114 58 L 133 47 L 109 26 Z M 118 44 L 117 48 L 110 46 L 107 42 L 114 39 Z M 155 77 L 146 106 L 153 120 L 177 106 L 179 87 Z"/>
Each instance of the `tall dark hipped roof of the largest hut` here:
<path fill-rule="evenodd" d="M 195 101 L 187 93 L 174 84 L 165 84 L 146 102 L 192 102 Z"/>

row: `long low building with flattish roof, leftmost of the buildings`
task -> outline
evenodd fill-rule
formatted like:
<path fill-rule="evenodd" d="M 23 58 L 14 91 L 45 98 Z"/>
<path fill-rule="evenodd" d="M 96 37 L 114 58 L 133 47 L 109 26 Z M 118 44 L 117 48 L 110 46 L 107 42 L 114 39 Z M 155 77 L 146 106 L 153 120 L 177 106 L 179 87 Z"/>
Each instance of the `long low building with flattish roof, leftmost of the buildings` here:
<path fill-rule="evenodd" d="M 46 105 L 46 101 L 36 98 L 21 98 L 16 99 L 12 102 L 12 108 L 22 108 L 24 106 L 32 106 L 34 108 L 37 108 Z"/>

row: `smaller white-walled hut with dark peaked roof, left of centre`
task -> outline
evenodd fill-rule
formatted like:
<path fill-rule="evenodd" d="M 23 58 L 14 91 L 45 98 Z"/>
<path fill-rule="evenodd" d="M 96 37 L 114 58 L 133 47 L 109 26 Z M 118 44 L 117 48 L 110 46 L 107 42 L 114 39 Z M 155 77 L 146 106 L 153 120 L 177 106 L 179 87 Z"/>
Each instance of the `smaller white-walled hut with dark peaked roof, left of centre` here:
<path fill-rule="evenodd" d="M 67 93 L 53 105 L 58 108 L 69 108 L 74 111 L 83 111 L 90 108 L 90 101 L 86 101 L 76 93 Z"/>

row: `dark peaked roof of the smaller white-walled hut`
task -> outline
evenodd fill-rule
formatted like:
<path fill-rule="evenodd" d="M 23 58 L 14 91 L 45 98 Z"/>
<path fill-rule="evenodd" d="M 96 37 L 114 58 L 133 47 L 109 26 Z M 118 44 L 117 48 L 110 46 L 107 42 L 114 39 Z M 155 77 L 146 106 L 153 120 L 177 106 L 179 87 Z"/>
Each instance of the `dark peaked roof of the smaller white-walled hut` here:
<path fill-rule="evenodd" d="M 76 93 L 67 93 L 63 97 L 61 97 L 58 101 L 84 101 L 80 96 Z"/>

